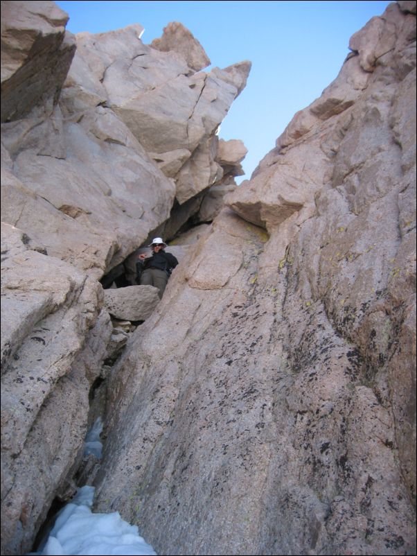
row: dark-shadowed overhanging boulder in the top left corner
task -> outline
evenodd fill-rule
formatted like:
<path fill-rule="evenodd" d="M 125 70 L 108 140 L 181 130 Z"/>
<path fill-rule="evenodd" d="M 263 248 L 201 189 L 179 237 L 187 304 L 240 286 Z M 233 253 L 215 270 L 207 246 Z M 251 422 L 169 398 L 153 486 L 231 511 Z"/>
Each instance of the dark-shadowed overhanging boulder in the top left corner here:
<path fill-rule="evenodd" d="M 56 102 L 76 49 L 53 2 L 1 3 L 1 122 Z"/>

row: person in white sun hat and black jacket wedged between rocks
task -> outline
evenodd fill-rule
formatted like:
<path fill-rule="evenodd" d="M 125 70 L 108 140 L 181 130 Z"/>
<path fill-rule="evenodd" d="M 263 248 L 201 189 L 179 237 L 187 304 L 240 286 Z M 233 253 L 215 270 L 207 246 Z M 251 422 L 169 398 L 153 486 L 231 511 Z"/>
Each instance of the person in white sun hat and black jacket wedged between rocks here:
<path fill-rule="evenodd" d="M 136 262 L 137 276 L 141 286 L 158 288 L 161 299 L 172 269 L 177 266 L 178 261 L 173 254 L 165 252 L 166 243 L 162 238 L 154 238 L 149 247 L 152 248 L 150 257 L 145 253 L 139 254 L 139 261 Z"/>

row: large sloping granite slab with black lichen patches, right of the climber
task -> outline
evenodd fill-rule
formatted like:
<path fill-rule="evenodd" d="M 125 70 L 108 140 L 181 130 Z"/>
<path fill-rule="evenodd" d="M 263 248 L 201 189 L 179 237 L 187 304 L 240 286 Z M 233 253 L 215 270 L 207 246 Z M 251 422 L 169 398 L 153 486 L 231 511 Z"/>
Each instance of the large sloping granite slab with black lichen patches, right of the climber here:
<path fill-rule="evenodd" d="M 114 367 L 96 507 L 159 554 L 415 553 L 405 4 L 353 36 Z"/>

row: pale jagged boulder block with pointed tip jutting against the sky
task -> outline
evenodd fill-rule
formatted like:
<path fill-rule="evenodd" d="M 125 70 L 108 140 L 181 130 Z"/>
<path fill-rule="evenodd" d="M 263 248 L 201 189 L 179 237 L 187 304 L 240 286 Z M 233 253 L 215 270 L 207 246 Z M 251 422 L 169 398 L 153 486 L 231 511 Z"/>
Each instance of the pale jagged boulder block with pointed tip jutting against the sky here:
<path fill-rule="evenodd" d="M 78 111 L 80 103 L 87 108 L 107 98 L 161 171 L 175 180 L 176 198 L 183 204 L 222 177 L 215 162 L 215 132 L 245 87 L 251 64 L 195 73 L 195 64 L 190 67 L 182 54 L 186 51 L 195 60 L 197 42 L 181 24 L 168 25 L 165 38 L 155 43 L 158 49 L 154 43 L 143 44 L 140 35 L 141 27 L 135 25 L 77 35 L 78 51 L 64 89 L 66 105 Z M 76 94 L 69 98 L 71 89 Z"/>

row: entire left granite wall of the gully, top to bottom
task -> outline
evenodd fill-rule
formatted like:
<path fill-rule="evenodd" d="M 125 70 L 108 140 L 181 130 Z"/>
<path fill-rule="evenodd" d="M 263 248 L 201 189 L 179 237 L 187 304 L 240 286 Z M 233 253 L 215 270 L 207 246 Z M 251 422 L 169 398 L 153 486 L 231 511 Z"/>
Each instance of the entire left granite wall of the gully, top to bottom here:
<path fill-rule="evenodd" d="M 196 73 L 206 55 L 180 24 L 158 50 L 139 24 L 73 36 L 67 20 L 52 1 L 1 2 L 2 554 L 30 551 L 75 492 L 97 384 L 130 333 L 109 313 L 143 320 L 159 301 L 132 312 L 130 288 L 107 303 L 99 280 L 222 185 L 215 132 L 250 69 Z"/>

